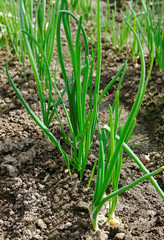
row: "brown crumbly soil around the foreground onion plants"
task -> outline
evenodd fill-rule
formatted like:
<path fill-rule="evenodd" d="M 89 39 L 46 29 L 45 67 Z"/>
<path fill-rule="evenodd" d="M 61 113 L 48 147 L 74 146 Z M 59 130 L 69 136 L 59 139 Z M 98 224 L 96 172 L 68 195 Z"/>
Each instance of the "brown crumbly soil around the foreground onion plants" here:
<path fill-rule="evenodd" d="M 97 135 L 88 157 L 84 180 L 80 181 L 73 170 L 70 178 L 60 152 L 53 144 L 46 142 L 42 131 L 22 107 L 10 86 L 5 73 L 6 52 L 6 49 L 0 51 L 0 240 L 164 239 L 164 203 L 149 181 L 140 183 L 118 197 L 116 216 L 121 220 L 119 227 L 105 227 L 100 222 L 100 230 L 93 231 L 89 207 L 95 176 L 90 188 L 87 188 L 87 184 L 98 156 Z M 128 49 L 118 53 L 110 43 L 103 44 L 100 91 L 125 60 L 128 60 L 128 66 L 120 91 L 121 104 L 125 109 L 122 122 L 125 122 L 136 96 L 140 63 L 131 60 Z M 26 69 L 27 81 L 24 81 L 22 66 L 11 54 L 9 71 L 25 100 L 41 118 L 30 68 Z M 60 81 L 62 86 L 62 79 Z M 108 122 L 108 105 L 112 104 L 116 86 L 111 87 L 100 105 L 102 124 Z M 129 142 L 150 171 L 164 165 L 163 86 L 164 73 L 154 66 L 137 126 Z M 56 119 L 50 129 L 62 144 Z M 127 157 L 121 170 L 119 187 L 141 175 L 138 167 Z M 164 175 L 159 174 L 155 178 L 164 190 Z M 106 216 L 105 210 L 103 214 Z"/>

